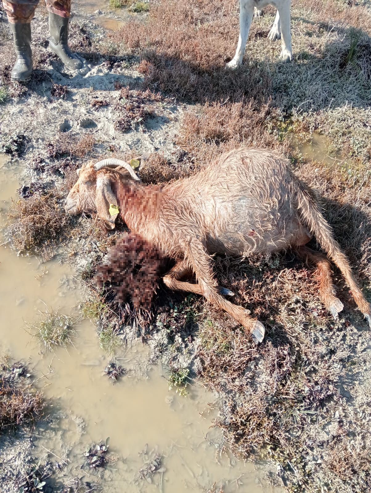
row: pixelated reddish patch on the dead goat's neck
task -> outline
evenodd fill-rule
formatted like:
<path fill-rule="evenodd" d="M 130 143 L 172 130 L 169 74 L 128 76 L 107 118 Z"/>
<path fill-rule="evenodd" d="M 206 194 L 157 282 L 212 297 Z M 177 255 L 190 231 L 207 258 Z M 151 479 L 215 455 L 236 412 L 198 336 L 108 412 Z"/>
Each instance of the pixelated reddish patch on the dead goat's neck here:
<path fill-rule="evenodd" d="M 132 214 L 153 214 L 161 207 L 161 187 L 143 185 L 138 181 L 127 180 L 121 182 L 117 190 L 117 197 L 123 209 Z"/>

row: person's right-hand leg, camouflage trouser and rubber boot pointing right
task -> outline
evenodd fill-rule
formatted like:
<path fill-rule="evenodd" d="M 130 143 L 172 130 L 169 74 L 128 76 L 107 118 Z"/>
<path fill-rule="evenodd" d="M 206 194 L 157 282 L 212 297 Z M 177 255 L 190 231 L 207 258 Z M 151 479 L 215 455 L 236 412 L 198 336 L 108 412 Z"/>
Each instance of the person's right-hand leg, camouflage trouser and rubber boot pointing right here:
<path fill-rule="evenodd" d="M 80 59 L 68 46 L 68 25 L 71 13 L 71 0 L 45 0 L 49 12 L 49 47 L 58 55 L 69 69 L 78 70 L 82 67 Z"/>

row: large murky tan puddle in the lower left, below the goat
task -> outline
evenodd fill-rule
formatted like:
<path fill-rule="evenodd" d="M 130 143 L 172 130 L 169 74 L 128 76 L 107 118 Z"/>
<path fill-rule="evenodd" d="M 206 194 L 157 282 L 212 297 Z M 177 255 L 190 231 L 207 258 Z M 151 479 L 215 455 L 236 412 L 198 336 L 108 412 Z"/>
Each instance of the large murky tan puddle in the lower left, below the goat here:
<path fill-rule="evenodd" d="M 13 172 L 1 168 L 0 208 L 6 210 L 19 186 Z M 2 224 L 4 216 L 1 217 Z M 104 473 L 105 492 L 126 493 L 202 492 L 214 482 L 224 485 L 224 492 L 271 491 L 261 489 L 261 470 L 253 465 L 218 454 L 223 438 L 218 429 L 210 429 L 213 413 L 209 402 L 214 397 L 199 385 L 192 386 L 187 398 L 168 391 L 165 370 L 148 368 L 147 348 L 135 346 L 119 355 L 128 373 L 114 386 L 103 374 L 108 357 L 99 348 L 95 327 L 88 321 L 80 324 L 74 347 L 66 352 L 42 353 L 36 339 L 25 330 L 26 321 L 36 322 L 45 306 L 71 314 L 80 301 L 74 272 L 58 260 L 40 264 L 35 257 L 17 256 L 0 246 L 0 354 L 9 353 L 16 360 L 29 362 L 37 387 L 51 399 L 55 414 L 62 416 L 57 429 L 39 440 L 60 457 L 71 446 L 68 470 L 82 476 L 80 466 L 86 447 L 110 437 L 110 450 L 117 461 Z M 43 376 L 44 375 L 44 376 Z M 41 377 L 41 378 L 40 378 Z M 82 421 L 81 421 L 82 420 Z M 51 433 L 54 435 L 51 435 Z M 156 473 L 153 483 L 134 484 L 143 466 L 139 453 L 148 444 L 163 454 L 166 471 Z M 55 457 L 51 456 L 55 460 Z M 95 478 L 92 475 L 89 481 Z M 86 477 L 87 480 L 87 477 Z"/>

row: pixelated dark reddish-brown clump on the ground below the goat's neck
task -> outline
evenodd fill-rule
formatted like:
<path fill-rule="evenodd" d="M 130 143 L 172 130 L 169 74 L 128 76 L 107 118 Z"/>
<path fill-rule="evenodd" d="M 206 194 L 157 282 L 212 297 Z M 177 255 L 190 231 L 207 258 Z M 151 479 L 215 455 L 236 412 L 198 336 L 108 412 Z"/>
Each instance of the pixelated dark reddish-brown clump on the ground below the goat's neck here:
<path fill-rule="evenodd" d="M 141 235 L 125 233 L 108 254 L 110 263 L 98 267 L 95 282 L 103 288 L 109 282 L 117 303 L 131 295 L 134 308 L 150 310 L 165 257 L 159 248 Z"/>

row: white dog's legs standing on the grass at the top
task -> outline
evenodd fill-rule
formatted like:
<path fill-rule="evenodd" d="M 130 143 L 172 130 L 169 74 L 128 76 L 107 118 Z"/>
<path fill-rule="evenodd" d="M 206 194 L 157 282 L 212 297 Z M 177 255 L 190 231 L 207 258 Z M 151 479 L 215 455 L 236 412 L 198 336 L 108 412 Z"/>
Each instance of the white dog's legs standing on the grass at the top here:
<path fill-rule="evenodd" d="M 242 63 L 253 15 L 255 14 L 256 17 L 259 17 L 261 15 L 261 9 L 269 3 L 277 8 L 277 14 L 273 27 L 269 31 L 268 38 L 271 41 L 275 41 L 282 37 L 280 58 L 283 62 L 291 62 L 293 59 L 290 31 L 291 0 L 240 0 L 240 35 L 236 54 L 226 65 L 228 69 L 235 69 Z"/>

